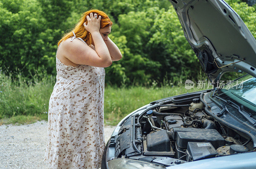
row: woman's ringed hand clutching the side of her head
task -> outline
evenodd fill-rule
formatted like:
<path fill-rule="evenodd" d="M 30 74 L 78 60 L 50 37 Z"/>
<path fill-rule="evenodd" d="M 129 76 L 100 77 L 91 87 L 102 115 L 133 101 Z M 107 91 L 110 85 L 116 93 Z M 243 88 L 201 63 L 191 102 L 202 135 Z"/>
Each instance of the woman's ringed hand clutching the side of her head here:
<path fill-rule="evenodd" d="M 94 17 L 97 17 L 97 14 L 95 13 L 94 14 Z M 90 32 L 92 34 L 92 32 L 99 32 L 100 31 L 100 19 L 101 19 L 101 16 L 99 16 L 99 18 L 94 18 L 93 15 L 92 15 L 92 12 L 90 13 L 90 16 L 87 15 L 86 18 L 87 18 L 87 25 L 86 23 L 84 22 L 84 28 Z"/>

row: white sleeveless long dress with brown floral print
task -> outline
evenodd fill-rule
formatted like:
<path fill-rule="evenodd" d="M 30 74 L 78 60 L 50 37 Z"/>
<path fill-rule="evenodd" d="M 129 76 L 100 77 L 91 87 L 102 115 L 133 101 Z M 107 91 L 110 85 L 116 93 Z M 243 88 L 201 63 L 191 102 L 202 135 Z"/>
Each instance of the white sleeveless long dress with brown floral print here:
<path fill-rule="evenodd" d="M 75 34 L 71 41 L 74 38 Z M 44 161 L 49 168 L 100 168 L 105 147 L 105 70 L 67 66 L 57 56 L 56 69 Z"/>

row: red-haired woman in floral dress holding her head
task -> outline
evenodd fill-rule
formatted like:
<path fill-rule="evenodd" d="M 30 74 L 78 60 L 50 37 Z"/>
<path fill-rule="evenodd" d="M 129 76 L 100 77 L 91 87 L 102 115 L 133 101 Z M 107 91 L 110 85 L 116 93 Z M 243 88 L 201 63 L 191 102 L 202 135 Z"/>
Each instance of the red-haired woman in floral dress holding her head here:
<path fill-rule="evenodd" d="M 86 11 L 58 43 L 44 155 L 49 168 L 100 168 L 105 147 L 104 67 L 122 58 L 108 38 L 112 24 L 103 11 Z"/>

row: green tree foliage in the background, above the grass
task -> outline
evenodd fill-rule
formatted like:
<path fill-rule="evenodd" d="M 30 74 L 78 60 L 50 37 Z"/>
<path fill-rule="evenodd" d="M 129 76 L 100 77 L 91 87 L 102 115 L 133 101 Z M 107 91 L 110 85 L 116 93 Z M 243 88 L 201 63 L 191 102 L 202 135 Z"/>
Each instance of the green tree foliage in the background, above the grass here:
<path fill-rule="evenodd" d="M 227 2 L 256 37 L 255 8 Z M 178 83 L 202 74 L 168 0 L 1 0 L 0 67 L 18 69 L 26 77 L 34 69 L 56 74 L 58 40 L 90 9 L 108 14 L 114 23 L 109 38 L 123 55 L 105 68 L 108 84 Z"/>

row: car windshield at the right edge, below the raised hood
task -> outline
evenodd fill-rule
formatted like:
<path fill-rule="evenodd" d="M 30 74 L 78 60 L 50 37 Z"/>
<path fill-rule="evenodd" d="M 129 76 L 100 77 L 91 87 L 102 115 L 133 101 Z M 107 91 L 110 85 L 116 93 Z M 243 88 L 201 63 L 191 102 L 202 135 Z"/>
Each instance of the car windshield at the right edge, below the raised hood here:
<path fill-rule="evenodd" d="M 247 74 L 227 83 L 217 91 L 216 95 L 245 106 L 251 110 L 252 117 L 256 119 L 256 78 L 253 76 Z"/>

